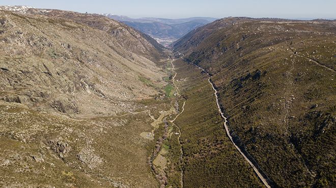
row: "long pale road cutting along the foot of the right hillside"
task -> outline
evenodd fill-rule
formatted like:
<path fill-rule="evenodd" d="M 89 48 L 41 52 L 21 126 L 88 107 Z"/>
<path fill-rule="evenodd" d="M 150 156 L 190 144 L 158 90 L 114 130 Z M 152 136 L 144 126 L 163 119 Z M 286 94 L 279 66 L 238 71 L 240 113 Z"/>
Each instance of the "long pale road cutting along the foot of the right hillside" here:
<path fill-rule="evenodd" d="M 183 57 L 182 57 L 183 59 Z M 197 66 L 197 65 L 194 65 L 195 67 L 201 69 L 204 73 L 206 73 L 208 76 L 209 76 L 209 79 L 208 79 L 208 82 L 211 84 L 212 86 L 212 89 L 215 91 L 214 95 L 215 95 L 215 98 L 216 98 L 216 104 L 217 104 L 217 108 L 218 108 L 218 112 L 220 114 L 220 116 L 223 118 L 224 120 L 224 128 L 225 128 L 225 131 L 227 132 L 227 135 L 228 137 L 230 138 L 231 142 L 233 143 L 233 145 L 236 147 L 236 149 L 239 151 L 239 153 L 244 157 L 244 159 L 248 162 L 248 164 L 253 168 L 253 170 L 256 172 L 257 176 L 259 177 L 259 179 L 264 183 L 264 185 L 266 187 L 271 187 L 266 178 L 263 177 L 263 175 L 259 172 L 258 168 L 246 157 L 246 155 L 241 151 L 241 149 L 236 145 L 236 143 L 233 141 L 232 139 L 232 136 L 230 134 L 230 131 L 229 131 L 229 128 L 228 128 L 228 118 L 224 116 L 224 113 L 222 112 L 221 108 L 220 108 L 220 105 L 219 105 L 219 100 L 218 100 L 218 91 L 217 89 L 215 88 L 215 85 L 214 83 L 212 82 L 211 80 L 211 76 L 208 72 L 206 72 L 203 68 Z M 247 151 L 246 151 L 247 152 Z"/>

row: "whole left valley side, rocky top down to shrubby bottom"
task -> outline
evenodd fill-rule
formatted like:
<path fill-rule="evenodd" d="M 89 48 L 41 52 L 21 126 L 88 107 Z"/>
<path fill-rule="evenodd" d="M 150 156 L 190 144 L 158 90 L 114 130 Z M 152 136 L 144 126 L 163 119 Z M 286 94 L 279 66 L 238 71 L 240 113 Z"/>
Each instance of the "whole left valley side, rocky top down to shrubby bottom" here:
<path fill-rule="evenodd" d="M 18 11 L 0 10 L 0 186 L 157 187 L 162 52 L 103 16 Z"/>

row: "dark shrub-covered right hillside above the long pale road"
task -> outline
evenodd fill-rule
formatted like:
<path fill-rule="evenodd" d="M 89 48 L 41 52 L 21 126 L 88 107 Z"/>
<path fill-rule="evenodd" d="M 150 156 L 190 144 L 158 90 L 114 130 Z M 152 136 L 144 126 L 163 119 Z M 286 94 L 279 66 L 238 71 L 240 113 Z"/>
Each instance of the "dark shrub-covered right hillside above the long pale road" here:
<path fill-rule="evenodd" d="M 335 21 L 225 18 L 173 44 L 207 70 L 274 186 L 334 186 Z"/>

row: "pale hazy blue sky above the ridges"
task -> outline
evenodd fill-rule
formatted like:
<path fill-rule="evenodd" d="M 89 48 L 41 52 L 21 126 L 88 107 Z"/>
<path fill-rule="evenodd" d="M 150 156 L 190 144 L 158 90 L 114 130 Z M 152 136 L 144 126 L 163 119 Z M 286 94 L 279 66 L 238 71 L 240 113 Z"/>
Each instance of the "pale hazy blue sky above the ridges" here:
<path fill-rule="evenodd" d="M 132 18 L 194 16 L 336 18 L 336 0 L 0 0 L 0 5 L 111 13 Z"/>

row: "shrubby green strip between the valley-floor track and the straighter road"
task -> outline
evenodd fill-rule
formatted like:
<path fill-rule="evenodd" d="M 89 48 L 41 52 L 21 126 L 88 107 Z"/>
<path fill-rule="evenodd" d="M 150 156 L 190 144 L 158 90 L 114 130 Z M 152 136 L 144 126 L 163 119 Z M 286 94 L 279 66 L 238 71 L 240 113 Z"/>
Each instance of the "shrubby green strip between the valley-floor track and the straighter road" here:
<path fill-rule="evenodd" d="M 176 84 L 185 100 L 183 113 L 174 121 L 181 130 L 184 187 L 262 187 L 223 131 L 208 76 L 181 59 L 174 65 Z"/>

